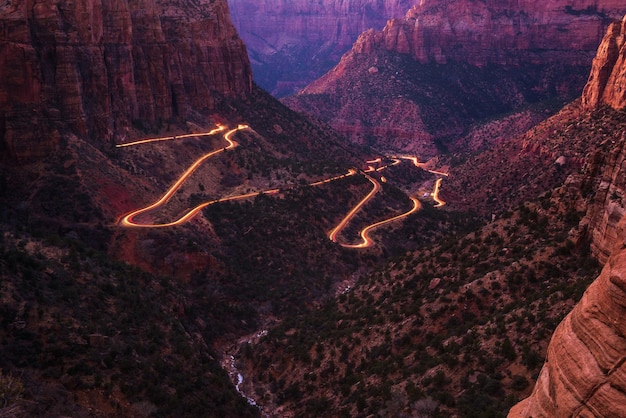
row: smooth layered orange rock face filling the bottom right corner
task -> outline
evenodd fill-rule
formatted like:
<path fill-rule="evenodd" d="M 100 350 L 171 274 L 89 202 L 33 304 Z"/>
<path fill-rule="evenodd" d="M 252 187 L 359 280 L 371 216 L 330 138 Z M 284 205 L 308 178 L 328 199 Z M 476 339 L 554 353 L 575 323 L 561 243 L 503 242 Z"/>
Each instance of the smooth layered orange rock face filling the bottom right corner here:
<path fill-rule="evenodd" d="M 626 250 L 557 327 L 532 395 L 514 417 L 626 416 Z"/>

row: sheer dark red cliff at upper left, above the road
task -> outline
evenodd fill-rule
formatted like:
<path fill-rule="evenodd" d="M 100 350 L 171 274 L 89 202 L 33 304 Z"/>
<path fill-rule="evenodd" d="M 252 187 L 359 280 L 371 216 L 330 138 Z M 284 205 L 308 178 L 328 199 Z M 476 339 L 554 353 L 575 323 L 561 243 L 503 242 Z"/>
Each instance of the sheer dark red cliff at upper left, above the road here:
<path fill-rule="evenodd" d="M 250 89 L 226 0 L 0 4 L 0 144 L 12 157 L 45 155 L 64 129 L 93 140 L 158 129 Z"/>

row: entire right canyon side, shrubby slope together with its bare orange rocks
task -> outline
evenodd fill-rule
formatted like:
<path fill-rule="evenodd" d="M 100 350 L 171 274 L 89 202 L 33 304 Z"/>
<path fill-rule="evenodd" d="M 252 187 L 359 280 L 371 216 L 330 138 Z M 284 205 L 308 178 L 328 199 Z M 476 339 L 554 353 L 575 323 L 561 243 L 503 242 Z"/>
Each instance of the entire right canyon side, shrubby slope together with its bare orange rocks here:
<path fill-rule="evenodd" d="M 622 28 L 612 25 L 602 45 L 621 48 Z M 461 208 L 486 200 L 490 223 L 406 253 L 318 312 L 243 344 L 247 393 L 286 416 L 503 416 L 547 351 L 532 396 L 511 416 L 623 416 L 626 112 L 608 106 L 619 92 L 608 74 L 622 68 L 603 50 L 582 100 L 453 166 L 460 180 L 444 189 L 471 195 Z M 590 108 L 597 90 L 603 99 Z M 516 207 L 501 212 L 507 201 Z M 605 252 L 600 277 L 548 347 Z"/>

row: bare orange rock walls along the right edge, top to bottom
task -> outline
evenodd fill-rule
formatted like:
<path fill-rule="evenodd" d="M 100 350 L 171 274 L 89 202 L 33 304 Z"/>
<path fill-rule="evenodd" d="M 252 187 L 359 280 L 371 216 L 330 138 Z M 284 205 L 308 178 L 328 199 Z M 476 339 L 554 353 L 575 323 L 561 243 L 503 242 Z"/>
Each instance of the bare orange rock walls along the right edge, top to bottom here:
<path fill-rule="evenodd" d="M 582 100 L 587 110 L 624 112 L 625 28 L 626 18 L 612 25 L 598 49 Z M 509 417 L 626 416 L 626 134 L 607 140 L 586 173 L 591 204 L 581 226 L 605 266 L 552 336 L 532 395 Z"/>

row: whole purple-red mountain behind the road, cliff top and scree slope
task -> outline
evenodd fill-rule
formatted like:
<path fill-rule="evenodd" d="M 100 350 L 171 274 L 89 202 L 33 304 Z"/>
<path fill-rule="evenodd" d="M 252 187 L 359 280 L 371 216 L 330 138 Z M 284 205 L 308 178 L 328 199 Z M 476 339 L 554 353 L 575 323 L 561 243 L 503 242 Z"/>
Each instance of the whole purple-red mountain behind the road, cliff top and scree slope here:
<path fill-rule="evenodd" d="M 607 25 L 624 13 L 615 1 L 422 2 L 364 33 L 285 103 L 355 142 L 432 155 L 472 124 L 577 97 Z"/>

